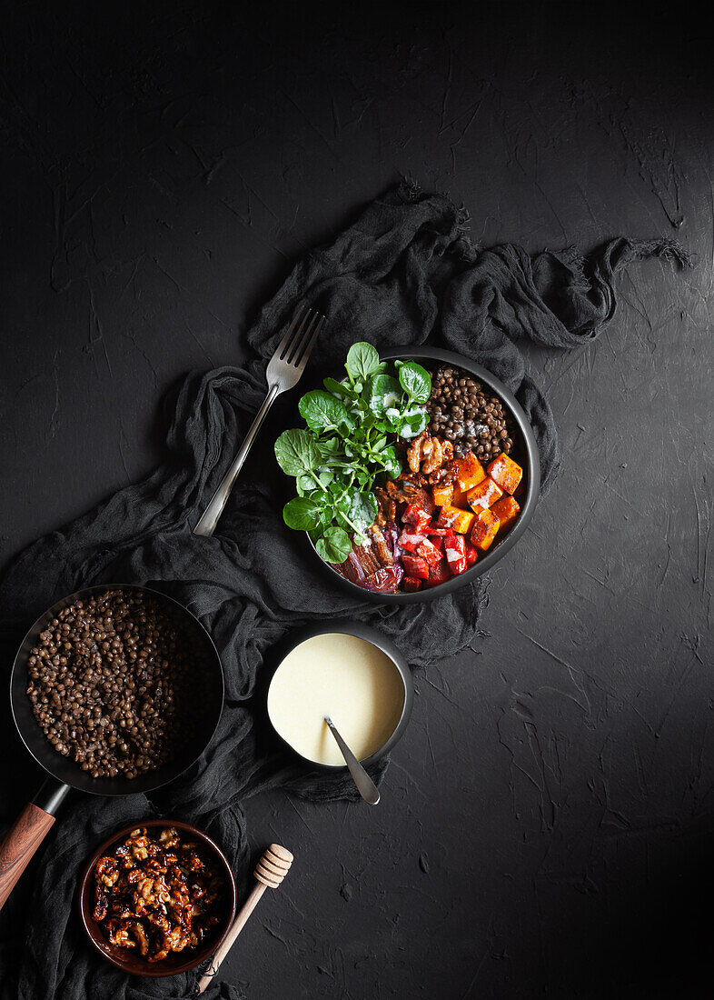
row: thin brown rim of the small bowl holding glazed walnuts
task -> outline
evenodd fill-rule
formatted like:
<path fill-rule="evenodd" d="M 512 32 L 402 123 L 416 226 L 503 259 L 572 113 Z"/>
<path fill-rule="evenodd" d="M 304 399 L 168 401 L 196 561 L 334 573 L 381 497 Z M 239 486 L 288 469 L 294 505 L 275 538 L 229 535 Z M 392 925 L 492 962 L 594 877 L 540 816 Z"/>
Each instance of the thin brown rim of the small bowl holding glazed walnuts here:
<path fill-rule="evenodd" d="M 97 922 L 94 920 L 94 918 L 91 916 L 90 900 L 88 894 L 90 892 L 91 879 L 95 862 L 100 857 L 100 855 L 104 854 L 118 840 L 121 840 L 122 837 L 127 836 L 129 833 L 132 832 L 132 830 L 136 830 L 136 828 L 139 826 L 145 826 L 145 827 L 175 826 L 180 830 L 186 830 L 188 833 L 191 833 L 199 841 L 201 841 L 201 843 L 203 843 L 204 845 L 208 845 L 213 849 L 214 853 L 216 854 L 221 863 L 221 867 L 224 870 L 226 881 L 228 883 L 230 913 L 226 919 L 225 927 L 221 932 L 220 937 L 218 937 L 216 941 L 211 944 L 210 950 L 207 950 L 206 948 L 197 950 L 194 952 L 192 958 L 189 958 L 185 962 L 173 966 L 171 969 L 162 969 L 160 962 L 152 966 L 151 963 L 146 962 L 144 959 L 141 959 L 138 956 L 131 956 L 131 958 L 127 958 L 126 960 L 116 957 L 108 950 L 109 947 L 115 947 L 115 946 L 108 945 L 106 949 L 102 946 L 101 942 L 103 941 L 103 938 L 101 937 L 101 932 L 98 929 L 95 930 L 95 928 L 97 928 L 98 925 Z M 229 860 L 224 854 L 224 852 L 221 850 L 221 848 L 218 846 L 216 841 L 213 839 L 213 837 L 210 837 L 208 833 L 204 833 L 203 830 L 201 830 L 197 826 L 194 826 L 192 823 L 187 823 L 184 820 L 172 819 L 170 816 L 163 816 L 163 817 L 160 816 L 151 819 L 137 819 L 133 823 L 129 823 L 127 824 L 127 826 L 121 827 L 119 830 L 116 830 L 111 835 L 111 837 L 107 837 L 107 839 L 103 841 L 95 851 L 92 852 L 92 854 L 89 857 L 89 860 L 87 861 L 82 871 L 82 875 L 79 880 L 79 888 L 77 891 L 77 906 L 79 909 L 80 922 L 82 924 L 84 932 L 89 938 L 95 950 L 99 952 L 102 958 L 106 959 L 106 961 L 110 962 L 117 969 L 121 969 L 122 972 L 127 972 L 134 976 L 145 976 L 150 979 L 161 979 L 161 978 L 166 978 L 168 976 L 178 976 L 183 972 L 190 972 L 192 969 L 197 968 L 197 966 L 201 965 L 202 962 L 205 962 L 207 958 L 210 958 L 211 955 L 215 954 L 215 952 L 218 951 L 223 942 L 226 940 L 228 932 L 230 931 L 231 926 L 234 920 L 236 919 L 236 909 L 238 907 L 238 888 L 236 885 L 236 876 L 233 873 L 233 869 L 231 868 Z"/>

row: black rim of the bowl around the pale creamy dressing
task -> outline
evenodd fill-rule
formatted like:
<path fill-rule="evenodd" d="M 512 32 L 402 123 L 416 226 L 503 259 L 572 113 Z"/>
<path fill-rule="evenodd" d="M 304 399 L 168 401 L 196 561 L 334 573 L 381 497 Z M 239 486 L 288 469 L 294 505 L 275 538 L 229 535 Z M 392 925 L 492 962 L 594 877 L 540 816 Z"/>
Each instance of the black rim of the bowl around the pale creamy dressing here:
<path fill-rule="evenodd" d="M 376 761 L 380 760 L 380 758 L 389 753 L 389 751 L 399 742 L 406 731 L 409 717 L 411 716 L 411 709 L 414 703 L 414 682 L 411 676 L 411 670 L 403 654 L 390 639 L 387 639 L 385 635 L 382 635 L 381 632 L 377 631 L 377 629 L 371 628 L 369 625 L 363 625 L 361 622 L 355 621 L 351 618 L 335 618 L 332 621 L 311 622 L 309 625 L 304 625 L 302 628 L 296 629 L 291 636 L 290 642 L 285 646 L 284 650 L 281 650 L 281 659 L 280 662 L 276 664 L 271 674 L 264 702 L 266 715 L 268 716 L 268 721 L 273 732 L 291 750 L 292 753 L 294 753 L 311 768 L 320 771 L 347 772 L 347 764 L 321 764 L 320 761 L 311 760 L 309 757 L 305 757 L 302 753 L 300 753 L 300 751 L 296 750 L 295 747 L 289 743 L 288 740 L 281 735 L 281 733 L 278 732 L 273 724 L 273 719 L 271 718 L 271 714 L 268 710 L 268 695 L 270 694 L 273 679 L 278 673 L 281 665 L 285 662 L 286 658 L 293 652 L 294 649 L 297 649 L 297 647 L 302 645 L 302 643 L 307 642 L 308 639 L 314 639 L 319 635 L 330 635 L 334 632 L 337 632 L 340 635 L 354 635 L 357 639 L 363 639 L 372 646 L 376 646 L 377 649 L 381 650 L 381 652 L 391 660 L 396 668 L 396 672 L 401 678 L 401 683 L 404 686 L 404 700 L 401 705 L 401 713 L 398 721 L 391 731 L 389 738 L 377 750 L 375 750 L 373 754 L 370 754 L 369 757 L 365 757 L 359 763 L 363 767 L 369 767 L 370 764 L 374 764 Z"/>

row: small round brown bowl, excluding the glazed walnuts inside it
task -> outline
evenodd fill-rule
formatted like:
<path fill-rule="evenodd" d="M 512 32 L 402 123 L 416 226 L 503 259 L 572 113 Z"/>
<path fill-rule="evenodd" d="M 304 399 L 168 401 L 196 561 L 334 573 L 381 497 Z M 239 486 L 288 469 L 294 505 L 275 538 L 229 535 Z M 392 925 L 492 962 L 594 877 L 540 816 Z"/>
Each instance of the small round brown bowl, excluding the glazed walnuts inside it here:
<path fill-rule="evenodd" d="M 95 862 L 103 854 L 107 854 L 117 847 L 138 826 L 145 826 L 150 829 L 173 826 L 177 830 L 191 834 L 203 847 L 204 851 L 213 856 L 219 871 L 223 874 L 226 886 L 223 899 L 224 912 L 221 923 L 213 928 L 211 934 L 201 943 L 201 947 L 186 948 L 184 951 L 172 952 L 160 962 L 148 962 L 141 955 L 135 953 L 132 948 L 121 948 L 119 945 L 110 944 L 104 936 L 101 925 L 92 916 L 94 909 Z M 195 969 L 196 966 L 201 965 L 207 958 L 210 958 L 224 941 L 231 924 L 235 920 L 236 902 L 236 879 L 234 878 L 228 859 L 221 848 L 208 834 L 202 833 L 201 830 L 198 830 L 195 826 L 191 826 L 189 823 L 182 823 L 175 819 L 140 819 L 113 833 L 111 837 L 97 848 L 87 862 L 79 886 L 79 912 L 82 926 L 100 955 L 124 972 L 129 972 L 134 976 L 150 976 L 153 979 L 161 976 L 176 976 L 180 972 L 189 972 L 189 970 Z"/>

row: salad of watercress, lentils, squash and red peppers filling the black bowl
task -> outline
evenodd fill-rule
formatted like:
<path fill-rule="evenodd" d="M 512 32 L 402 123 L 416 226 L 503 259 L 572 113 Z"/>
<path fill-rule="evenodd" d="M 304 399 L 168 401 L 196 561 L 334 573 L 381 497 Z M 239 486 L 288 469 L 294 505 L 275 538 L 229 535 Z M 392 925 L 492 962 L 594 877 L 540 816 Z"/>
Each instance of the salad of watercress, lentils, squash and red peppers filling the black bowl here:
<path fill-rule="evenodd" d="M 300 401 L 307 429 L 276 457 L 295 476 L 284 509 L 318 554 L 364 590 L 413 593 L 465 572 L 520 515 L 522 468 L 503 402 L 452 364 L 427 371 L 353 344 L 347 378 Z"/>

